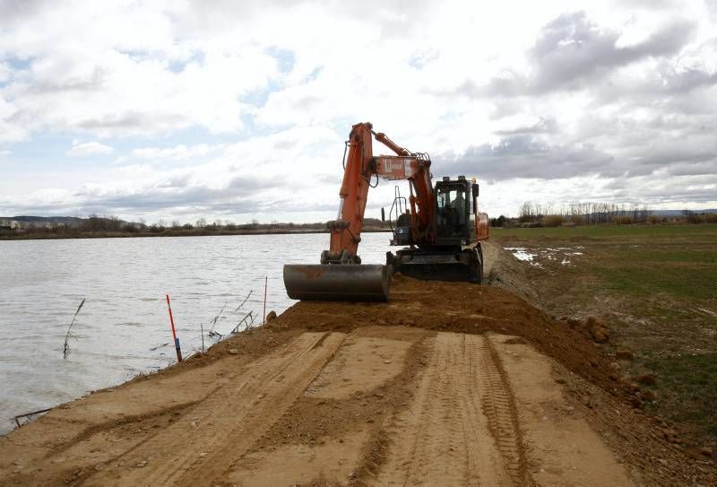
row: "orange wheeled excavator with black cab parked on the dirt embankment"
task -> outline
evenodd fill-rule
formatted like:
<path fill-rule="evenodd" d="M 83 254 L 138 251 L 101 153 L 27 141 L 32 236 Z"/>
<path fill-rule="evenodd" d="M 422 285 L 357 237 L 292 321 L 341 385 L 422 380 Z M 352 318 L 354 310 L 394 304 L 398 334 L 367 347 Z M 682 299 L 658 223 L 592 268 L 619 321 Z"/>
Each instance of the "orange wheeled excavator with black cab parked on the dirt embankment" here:
<path fill-rule="evenodd" d="M 373 153 L 373 138 L 396 155 Z M 488 214 L 478 211 L 479 185 L 464 176 L 442 178 L 434 187 L 427 153 L 410 152 L 370 123 L 352 127 L 331 241 L 318 265 L 284 265 L 284 285 L 295 300 L 388 300 L 393 273 L 436 281 L 483 281 L 480 241 L 488 239 Z M 398 187 L 388 221 L 391 245 L 385 265 L 361 265 L 361 241 L 368 189 L 378 179 L 408 179 L 408 201 Z M 384 208 L 382 220 L 386 220 Z"/>

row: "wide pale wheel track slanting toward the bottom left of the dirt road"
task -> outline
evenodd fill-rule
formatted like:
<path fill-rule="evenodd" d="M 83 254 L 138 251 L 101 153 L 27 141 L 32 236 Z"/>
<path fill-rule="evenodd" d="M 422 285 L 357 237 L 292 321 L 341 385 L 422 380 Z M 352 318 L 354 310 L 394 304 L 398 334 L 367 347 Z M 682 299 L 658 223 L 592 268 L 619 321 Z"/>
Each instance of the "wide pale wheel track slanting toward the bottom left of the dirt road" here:
<path fill-rule="evenodd" d="M 86 479 L 90 485 L 216 483 L 281 418 L 339 349 L 346 335 L 305 333 L 259 359 L 174 422 Z M 152 458 L 151 462 L 146 459 Z"/>

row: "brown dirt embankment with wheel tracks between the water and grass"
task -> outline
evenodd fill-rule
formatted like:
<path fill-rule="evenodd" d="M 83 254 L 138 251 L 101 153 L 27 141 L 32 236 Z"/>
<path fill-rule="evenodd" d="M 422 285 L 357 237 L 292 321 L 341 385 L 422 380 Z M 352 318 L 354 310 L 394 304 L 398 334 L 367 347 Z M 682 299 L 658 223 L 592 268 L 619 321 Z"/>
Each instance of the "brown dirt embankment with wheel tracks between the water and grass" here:
<path fill-rule="evenodd" d="M 713 484 L 610 375 L 510 292 L 401 278 L 56 408 L 0 439 L 0 484 Z"/>

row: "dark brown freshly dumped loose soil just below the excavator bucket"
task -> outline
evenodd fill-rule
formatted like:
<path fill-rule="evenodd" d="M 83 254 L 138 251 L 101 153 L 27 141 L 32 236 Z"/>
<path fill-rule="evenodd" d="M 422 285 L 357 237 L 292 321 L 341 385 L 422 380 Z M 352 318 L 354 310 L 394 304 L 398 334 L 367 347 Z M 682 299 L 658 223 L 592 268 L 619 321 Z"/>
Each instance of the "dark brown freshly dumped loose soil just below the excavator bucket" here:
<path fill-rule="evenodd" d="M 609 360 L 585 330 L 553 319 L 493 286 L 402 276 L 393 283 L 389 303 L 301 301 L 273 321 L 272 327 L 289 329 L 298 324 L 314 331 L 350 332 L 359 326 L 379 325 L 516 335 L 600 387 L 629 394 L 626 387 L 609 378 Z"/>

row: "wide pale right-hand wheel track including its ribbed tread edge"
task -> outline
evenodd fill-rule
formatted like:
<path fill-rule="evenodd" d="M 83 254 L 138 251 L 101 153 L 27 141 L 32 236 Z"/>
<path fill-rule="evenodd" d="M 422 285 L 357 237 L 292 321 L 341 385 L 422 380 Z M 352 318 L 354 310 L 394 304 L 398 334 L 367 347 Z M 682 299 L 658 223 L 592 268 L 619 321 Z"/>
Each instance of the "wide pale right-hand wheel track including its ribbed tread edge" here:
<path fill-rule="evenodd" d="M 413 403 L 385 430 L 391 446 L 376 484 L 526 484 L 509 389 L 489 346 L 483 335 L 436 335 Z"/>

